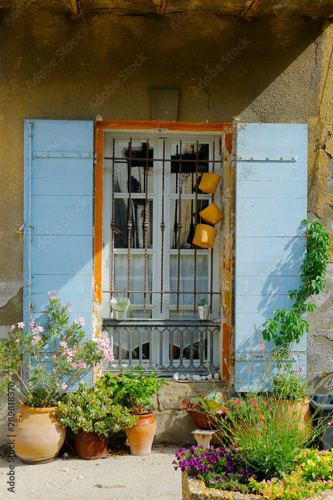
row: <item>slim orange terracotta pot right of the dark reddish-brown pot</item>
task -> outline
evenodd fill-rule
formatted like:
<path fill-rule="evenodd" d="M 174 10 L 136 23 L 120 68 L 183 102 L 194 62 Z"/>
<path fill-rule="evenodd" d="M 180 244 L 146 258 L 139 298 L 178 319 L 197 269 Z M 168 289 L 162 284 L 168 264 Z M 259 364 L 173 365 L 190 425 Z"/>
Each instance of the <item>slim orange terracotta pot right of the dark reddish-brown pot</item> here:
<path fill-rule="evenodd" d="M 133 413 L 139 418 L 133 427 L 125 429 L 131 455 L 149 455 L 156 432 L 154 412 Z"/>

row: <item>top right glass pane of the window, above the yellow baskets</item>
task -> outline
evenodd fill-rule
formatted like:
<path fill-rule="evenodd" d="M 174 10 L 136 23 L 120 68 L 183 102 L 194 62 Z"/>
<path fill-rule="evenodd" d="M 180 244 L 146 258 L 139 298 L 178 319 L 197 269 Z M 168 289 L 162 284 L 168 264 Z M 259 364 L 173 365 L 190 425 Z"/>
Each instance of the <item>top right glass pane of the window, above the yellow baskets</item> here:
<path fill-rule="evenodd" d="M 179 192 L 179 157 L 180 157 L 180 143 L 172 142 L 171 145 L 171 192 Z M 182 142 L 182 178 L 181 178 L 181 191 L 182 193 L 195 193 L 195 163 L 197 159 L 197 144 L 191 142 Z M 209 171 L 209 163 L 202 163 L 200 160 L 209 159 L 209 144 L 198 144 L 198 185 L 201 180 L 201 174 Z M 202 192 L 198 189 L 198 192 Z"/>

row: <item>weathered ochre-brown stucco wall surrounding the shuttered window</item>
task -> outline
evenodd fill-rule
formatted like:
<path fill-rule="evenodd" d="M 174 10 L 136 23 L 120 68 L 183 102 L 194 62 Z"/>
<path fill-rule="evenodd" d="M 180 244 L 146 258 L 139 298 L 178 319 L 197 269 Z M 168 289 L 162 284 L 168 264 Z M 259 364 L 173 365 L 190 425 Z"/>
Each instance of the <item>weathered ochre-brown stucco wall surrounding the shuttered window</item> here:
<path fill-rule="evenodd" d="M 179 121 L 308 123 L 309 211 L 316 190 L 314 214 L 333 230 L 332 94 L 326 116 L 331 27 L 323 33 L 321 21 L 288 11 L 251 22 L 210 11 L 149 17 L 107 8 L 74 19 L 64 9 L 29 6 L 9 24 L 6 15 L 0 10 L 0 334 L 22 319 L 22 235 L 16 230 L 23 218 L 24 118 L 151 119 L 150 88 L 165 87 L 180 90 Z M 211 81 L 200 88 L 206 75 Z M 333 370 L 332 285 L 330 265 L 327 292 L 316 298 L 309 318 L 309 366 L 316 372 Z M 158 435 L 177 441 L 184 389 L 173 384 L 167 390 L 173 406 L 156 407 Z M 174 434 L 172 426 L 179 429 Z"/>

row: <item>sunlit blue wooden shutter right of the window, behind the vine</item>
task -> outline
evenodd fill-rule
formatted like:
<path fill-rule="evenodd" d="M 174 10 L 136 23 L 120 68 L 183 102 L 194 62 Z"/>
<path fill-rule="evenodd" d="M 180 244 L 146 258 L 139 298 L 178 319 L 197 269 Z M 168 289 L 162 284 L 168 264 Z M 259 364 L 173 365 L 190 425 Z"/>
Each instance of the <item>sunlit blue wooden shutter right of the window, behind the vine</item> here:
<path fill-rule="evenodd" d="M 263 358 L 254 324 L 290 308 L 288 290 L 300 285 L 306 251 L 307 125 L 243 123 L 237 126 L 235 364 L 238 390 L 256 386 Z M 274 343 L 267 344 L 272 350 Z M 306 338 L 295 347 L 306 367 Z"/>

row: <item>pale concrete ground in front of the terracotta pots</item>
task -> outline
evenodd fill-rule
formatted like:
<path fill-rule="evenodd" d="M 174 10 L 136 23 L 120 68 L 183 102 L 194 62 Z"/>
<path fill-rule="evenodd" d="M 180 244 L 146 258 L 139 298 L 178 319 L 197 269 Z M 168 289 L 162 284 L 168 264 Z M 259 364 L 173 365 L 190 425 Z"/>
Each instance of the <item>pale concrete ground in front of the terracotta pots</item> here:
<path fill-rule="evenodd" d="M 7 491 L 9 463 L 0 459 L 0 498 L 15 500 L 181 500 L 181 472 L 172 460 L 179 446 L 153 445 L 147 456 L 98 460 L 60 458 L 27 465 L 15 458 L 15 495 Z M 61 468 L 68 468 L 68 472 Z M 76 479 L 79 476 L 82 479 Z M 118 486 L 112 488 L 98 487 Z"/>

